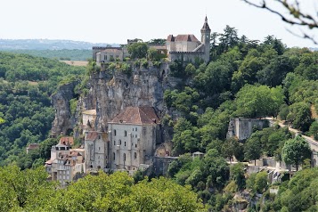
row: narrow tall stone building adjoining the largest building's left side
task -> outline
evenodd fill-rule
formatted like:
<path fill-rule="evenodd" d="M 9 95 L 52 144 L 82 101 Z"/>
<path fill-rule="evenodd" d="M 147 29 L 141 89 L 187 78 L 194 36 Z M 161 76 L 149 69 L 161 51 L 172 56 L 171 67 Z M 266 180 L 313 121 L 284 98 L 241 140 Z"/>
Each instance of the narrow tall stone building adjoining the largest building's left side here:
<path fill-rule="evenodd" d="M 108 168 L 110 143 L 107 142 L 107 134 L 96 131 L 86 132 L 84 145 L 86 172 L 96 172 Z"/>

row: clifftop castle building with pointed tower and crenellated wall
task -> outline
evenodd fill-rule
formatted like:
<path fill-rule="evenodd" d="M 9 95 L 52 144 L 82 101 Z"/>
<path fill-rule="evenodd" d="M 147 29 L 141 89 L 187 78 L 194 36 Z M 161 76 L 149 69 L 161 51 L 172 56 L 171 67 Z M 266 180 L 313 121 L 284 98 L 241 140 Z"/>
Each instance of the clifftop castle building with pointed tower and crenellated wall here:
<path fill-rule="evenodd" d="M 211 29 L 208 26 L 208 18 L 206 17 L 201 29 L 201 41 L 192 34 L 178 35 L 176 37 L 169 35 L 166 42 L 168 61 L 195 61 L 196 59 L 202 59 L 208 62 L 210 34 Z"/>

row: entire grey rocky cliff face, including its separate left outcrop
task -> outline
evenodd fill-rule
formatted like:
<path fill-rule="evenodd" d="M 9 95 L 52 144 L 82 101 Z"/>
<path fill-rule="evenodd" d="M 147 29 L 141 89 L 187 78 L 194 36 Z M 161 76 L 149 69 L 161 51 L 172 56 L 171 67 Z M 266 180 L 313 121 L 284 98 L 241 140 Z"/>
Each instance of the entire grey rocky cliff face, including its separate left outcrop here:
<path fill-rule="evenodd" d="M 107 122 L 127 106 L 152 106 L 162 118 L 167 112 L 163 102 L 164 91 L 180 82 L 178 78 L 167 77 L 167 70 L 168 64 L 164 63 L 160 68 L 133 67 L 130 76 L 118 70 L 113 70 L 112 74 L 107 71 L 95 73 L 90 76 L 89 94 L 79 99 L 77 110 L 95 109 L 95 129 L 99 131 L 106 131 Z M 61 86 L 52 97 L 56 111 L 53 135 L 65 135 L 76 125 L 77 116 L 72 118 L 69 111 L 69 100 L 75 96 L 73 90 L 76 85 Z M 80 124 L 79 121 L 77 124 Z"/>

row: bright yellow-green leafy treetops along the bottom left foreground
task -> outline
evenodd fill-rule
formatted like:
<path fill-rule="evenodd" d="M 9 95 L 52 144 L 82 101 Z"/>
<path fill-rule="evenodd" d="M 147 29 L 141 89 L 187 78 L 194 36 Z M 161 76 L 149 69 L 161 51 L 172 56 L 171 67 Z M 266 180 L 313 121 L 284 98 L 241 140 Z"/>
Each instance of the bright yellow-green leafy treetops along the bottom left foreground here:
<path fill-rule="evenodd" d="M 44 167 L 20 171 L 0 168 L 1 211 L 205 211 L 189 186 L 166 178 L 134 184 L 117 172 L 86 175 L 68 188 L 46 181 Z M 63 197 L 68 197 L 63 199 Z"/>

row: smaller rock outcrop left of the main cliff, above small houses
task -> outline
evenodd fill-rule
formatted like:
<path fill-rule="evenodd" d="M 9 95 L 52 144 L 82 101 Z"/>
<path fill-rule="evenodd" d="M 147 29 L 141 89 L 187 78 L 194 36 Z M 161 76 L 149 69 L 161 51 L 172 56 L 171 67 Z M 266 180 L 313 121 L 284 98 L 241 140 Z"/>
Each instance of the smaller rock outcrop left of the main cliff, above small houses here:
<path fill-rule="evenodd" d="M 52 95 L 55 109 L 55 118 L 52 124 L 52 135 L 66 135 L 75 126 L 76 119 L 72 118 L 69 110 L 69 100 L 75 97 L 74 88 L 78 82 L 71 82 L 61 86 L 56 94 Z"/>

